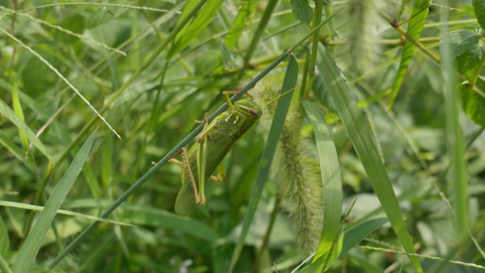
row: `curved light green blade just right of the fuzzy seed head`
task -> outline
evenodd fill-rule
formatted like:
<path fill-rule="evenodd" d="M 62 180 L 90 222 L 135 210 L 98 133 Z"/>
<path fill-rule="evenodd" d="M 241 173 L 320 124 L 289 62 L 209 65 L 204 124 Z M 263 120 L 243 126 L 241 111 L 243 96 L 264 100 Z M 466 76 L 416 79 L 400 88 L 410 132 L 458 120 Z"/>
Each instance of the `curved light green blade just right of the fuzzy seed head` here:
<path fill-rule="evenodd" d="M 318 250 L 313 257 L 313 262 L 316 262 L 331 249 L 335 240 L 338 240 L 343 198 L 342 176 L 337 150 L 325 124 L 323 112 L 320 111 L 316 102 L 302 101 L 302 104 L 313 126 L 313 133 L 315 133 L 323 183 L 323 226 Z M 333 253 L 338 252 L 333 249 Z M 319 271 L 323 268 L 323 264 L 320 265 Z M 327 264 L 328 267 L 331 265 L 331 263 Z"/>

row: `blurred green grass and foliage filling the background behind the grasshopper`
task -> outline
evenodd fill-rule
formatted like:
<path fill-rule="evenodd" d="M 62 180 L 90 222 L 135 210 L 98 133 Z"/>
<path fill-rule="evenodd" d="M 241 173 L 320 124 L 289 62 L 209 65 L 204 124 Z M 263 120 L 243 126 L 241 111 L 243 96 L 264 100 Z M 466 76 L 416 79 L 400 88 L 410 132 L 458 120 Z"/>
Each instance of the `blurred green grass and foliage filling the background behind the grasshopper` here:
<path fill-rule="evenodd" d="M 194 7 L 197 1 L 189 3 Z M 7 267 L 16 260 L 33 222 L 32 208 L 23 205 L 45 204 L 87 133 L 99 128 L 61 208 L 99 216 L 197 126 L 194 120 L 223 104 L 223 90 L 240 89 L 304 38 L 315 26 L 317 3 L 323 6 L 322 20 L 338 11 L 320 29 L 319 42 L 345 73 L 357 106 L 369 119 L 416 250 L 485 264 L 485 136 L 481 134 L 485 79 L 480 74 L 484 1 L 433 1 L 431 5 L 418 0 L 208 1 L 204 6 L 213 5 L 211 13 L 201 11 L 174 37 L 170 33 L 182 21 L 182 12 L 187 12 L 186 1 L 0 0 L 0 256 Z M 269 9 L 269 5 L 274 6 Z M 415 5 L 425 8 L 411 16 Z M 442 13 L 449 18 L 443 21 Z M 264 16 L 267 24 L 262 23 Z M 411 52 L 411 62 L 401 70 L 406 39 L 389 19 L 403 22 L 400 27 L 406 31 L 407 19 L 419 16 L 423 16 L 423 31 L 414 38 L 423 48 Z M 457 62 L 460 87 L 455 91 L 462 105 L 459 125 L 469 191 L 465 200 L 469 232 L 462 230 L 467 235 L 464 240 L 457 240 L 448 203 L 455 202 L 457 191 L 447 182 L 452 160 L 445 128 L 446 114 L 452 110 L 445 107 L 446 81 L 440 62 L 433 60 L 433 56 L 442 57 L 443 25 L 450 31 L 452 55 L 447 57 Z M 167 42 L 167 48 L 157 52 Z M 342 218 L 344 228 L 386 216 L 325 83 L 307 73 L 312 70 L 307 56 L 310 44 L 294 50 L 299 84 L 234 272 L 292 272 L 317 249 L 323 213 L 320 168 L 311 123 L 299 106 L 303 97 L 318 101 L 332 132 L 342 174 L 342 216 L 357 198 L 350 214 Z M 277 104 L 267 101 L 281 89 L 285 67 L 272 69 L 250 90 L 264 106 L 264 116 L 223 160 L 227 182 L 207 183 L 205 206 L 194 206 L 188 216 L 174 213 L 180 171 L 177 165 L 165 165 L 110 216 L 135 226 L 101 223 L 53 270 L 227 272 L 250 209 L 247 204 Z M 401 72 L 402 77 L 396 77 Z M 59 74 L 100 111 L 121 139 Z M 305 177 L 291 177 L 296 172 Z M 292 193 L 294 182 L 285 179 L 301 179 L 301 191 Z M 301 206 L 307 204 L 302 212 Z M 268 233 L 271 219 L 274 224 Z M 42 247 L 30 270 L 45 271 L 91 222 L 58 214 L 48 233 L 37 238 Z M 269 236 L 267 246 L 262 247 L 265 236 Z M 401 249 L 389 224 L 360 245 Z M 482 270 L 420 261 L 425 272 Z M 7 267 L 0 268 L 6 272 Z M 354 247 L 329 272 L 413 270 L 405 255 Z"/>

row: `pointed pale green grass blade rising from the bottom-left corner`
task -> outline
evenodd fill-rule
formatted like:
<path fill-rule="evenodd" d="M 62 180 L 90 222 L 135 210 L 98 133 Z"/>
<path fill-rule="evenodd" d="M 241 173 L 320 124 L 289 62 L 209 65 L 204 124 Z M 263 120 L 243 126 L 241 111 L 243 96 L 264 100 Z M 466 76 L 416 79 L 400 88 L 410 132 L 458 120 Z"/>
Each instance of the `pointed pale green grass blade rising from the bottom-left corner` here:
<path fill-rule="evenodd" d="M 60 207 L 62 201 L 64 201 L 69 193 L 69 190 L 76 181 L 79 172 L 81 172 L 82 165 L 87 159 L 95 136 L 96 131 L 89 135 L 89 138 L 86 140 L 84 145 L 82 145 L 76 157 L 74 157 L 74 160 L 72 160 L 71 165 L 69 165 L 59 183 L 57 183 L 55 186 L 52 194 L 50 194 L 48 201 L 45 203 L 43 211 L 40 212 L 40 215 L 27 235 L 26 241 L 23 243 L 20 251 L 18 252 L 17 259 L 13 263 L 13 272 L 28 272 L 32 266 L 35 256 L 41 247 L 42 238 L 44 238 L 45 234 L 50 229 L 50 225 L 54 220 L 57 209 Z"/>

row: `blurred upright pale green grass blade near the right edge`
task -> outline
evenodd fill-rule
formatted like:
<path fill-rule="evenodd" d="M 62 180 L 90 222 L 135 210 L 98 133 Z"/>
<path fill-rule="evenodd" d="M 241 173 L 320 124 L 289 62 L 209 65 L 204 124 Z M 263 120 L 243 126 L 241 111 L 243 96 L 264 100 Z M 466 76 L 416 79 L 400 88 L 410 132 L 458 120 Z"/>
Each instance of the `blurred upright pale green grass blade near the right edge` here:
<path fill-rule="evenodd" d="M 448 11 L 442 11 L 442 22 L 448 21 Z M 442 62 L 443 88 L 445 95 L 445 118 L 448 158 L 450 172 L 448 177 L 448 190 L 452 196 L 452 206 L 455 212 L 455 228 L 457 239 L 462 240 L 468 234 L 468 182 L 464 157 L 464 139 L 459 123 L 459 89 L 455 79 L 450 48 L 450 33 L 448 26 L 441 27 L 442 43 L 440 47 Z"/>

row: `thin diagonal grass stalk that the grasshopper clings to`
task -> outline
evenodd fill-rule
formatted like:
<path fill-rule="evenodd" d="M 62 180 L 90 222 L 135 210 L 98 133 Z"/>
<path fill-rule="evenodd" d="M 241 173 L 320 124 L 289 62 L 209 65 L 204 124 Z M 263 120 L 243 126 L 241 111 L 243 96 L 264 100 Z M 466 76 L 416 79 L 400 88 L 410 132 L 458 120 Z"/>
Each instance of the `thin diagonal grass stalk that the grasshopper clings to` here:
<path fill-rule="evenodd" d="M 260 72 L 260 74 L 257 74 L 257 76 L 254 79 L 252 79 L 248 84 L 245 85 L 245 87 L 243 87 L 243 89 L 240 90 L 240 93 L 239 94 L 235 94 L 234 96 L 231 97 L 231 101 L 235 102 L 238 99 L 240 99 L 241 96 L 243 96 L 244 94 L 246 94 L 246 92 L 248 90 L 250 90 L 253 86 L 255 86 L 255 84 L 257 84 L 257 82 L 259 82 L 264 76 L 266 76 L 266 74 L 268 74 L 269 72 L 271 72 L 272 69 L 274 69 L 274 67 L 277 67 L 277 65 L 279 65 L 280 62 L 282 62 L 283 60 L 285 60 L 286 57 L 288 56 L 288 54 L 289 53 L 285 52 L 284 54 L 282 54 L 281 56 L 279 56 L 279 58 L 277 60 L 275 60 L 271 65 L 269 65 L 269 67 L 267 67 L 262 72 Z M 228 108 L 228 105 L 227 104 L 223 104 L 216 111 L 214 111 L 214 113 L 212 113 L 211 116 L 208 117 L 208 120 L 209 121 L 212 121 L 213 118 L 215 118 L 216 116 L 218 116 L 220 113 L 222 113 L 223 111 L 225 111 L 225 109 L 227 109 L 227 108 Z M 175 145 L 172 148 L 172 150 L 170 150 L 167 153 L 167 155 L 165 155 L 164 157 L 162 157 L 162 159 L 159 162 L 157 162 L 156 165 L 154 165 L 147 172 L 145 172 L 145 174 L 143 174 L 143 176 L 140 177 L 140 179 L 138 179 L 137 182 L 135 182 L 135 184 L 133 184 L 133 186 L 130 186 L 130 189 L 128 189 L 120 197 L 118 197 L 118 199 L 116 199 L 116 201 L 114 201 L 113 204 L 111 204 L 111 206 L 109 206 L 106 209 L 106 211 L 104 211 L 104 213 L 102 213 L 101 216 L 99 216 L 99 218 L 107 218 L 116 208 L 118 208 L 118 206 L 120 206 L 121 204 L 123 204 L 123 202 L 126 201 L 126 199 L 128 199 L 128 197 L 131 194 L 133 194 L 153 174 L 155 174 L 158 171 L 158 169 L 160 169 L 163 165 L 165 165 L 168 162 L 168 160 L 176 152 L 178 152 L 180 149 L 182 149 L 182 147 L 185 147 L 187 144 L 189 144 L 189 142 L 191 140 L 193 140 L 196 137 L 196 135 L 198 135 L 199 133 L 201 133 L 201 131 L 202 131 L 203 128 L 204 128 L 204 124 L 201 124 L 201 125 L 197 126 L 191 133 L 189 133 L 189 135 L 186 135 L 186 137 L 179 144 Z M 61 252 L 60 255 L 57 256 L 55 258 L 55 260 L 53 260 L 49 264 L 48 269 L 49 270 L 54 269 L 56 267 L 56 265 L 59 264 L 59 262 L 61 262 L 62 259 L 64 259 L 64 257 L 66 255 L 68 255 L 70 252 L 72 252 L 72 250 L 74 250 L 74 248 L 81 242 L 81 240 L 84 238 L 84 236 L 86 236 L 87 234 L 89 234 L 91 232 L 91 230 L 93 230 L 94 228 L 96 228 L 99 225 L 99 223 L 101 223 L 101 222 L 95 221 L 95 222 L 91 223 L 91 225 L 89 225 L 85 230 L 83 230 L 82 233 L 79 233 L 79 235 L 77 235 L 77 238 L 75 238 L 69 245 L 67 245 L 67 247 L 65 248 L 65 250 L 63 252 Z"/>

